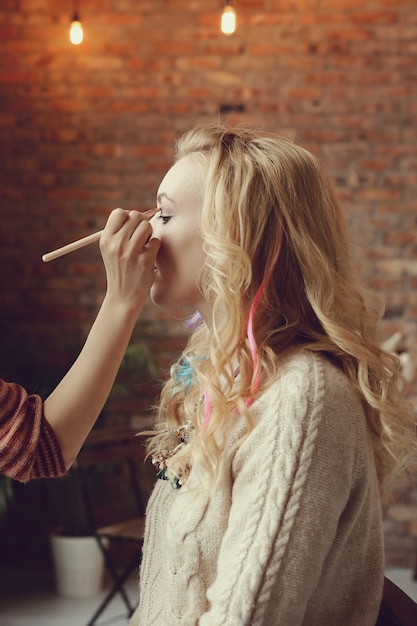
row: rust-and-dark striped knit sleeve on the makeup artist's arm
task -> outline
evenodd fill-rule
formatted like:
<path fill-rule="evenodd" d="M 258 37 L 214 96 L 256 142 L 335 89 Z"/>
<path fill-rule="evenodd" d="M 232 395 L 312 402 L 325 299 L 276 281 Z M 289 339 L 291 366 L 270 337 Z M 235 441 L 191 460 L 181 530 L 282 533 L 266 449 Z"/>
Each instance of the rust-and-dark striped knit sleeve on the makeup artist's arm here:
<path fill-rule="evenodd" d="M 42 399 L 0 379 L 0 472 L 25 482 L 65 474 L 61 447 Z"/>

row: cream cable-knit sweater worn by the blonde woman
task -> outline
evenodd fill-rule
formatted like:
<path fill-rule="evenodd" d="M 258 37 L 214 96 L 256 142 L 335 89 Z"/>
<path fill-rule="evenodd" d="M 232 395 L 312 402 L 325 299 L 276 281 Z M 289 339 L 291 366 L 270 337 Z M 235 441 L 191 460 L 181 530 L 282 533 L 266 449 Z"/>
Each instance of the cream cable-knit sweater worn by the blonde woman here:
<path fill-rule="evenodd" d="M 384 576 L 370 434 L 346 377 L 287 358 L 236 420 L 212 497 L 198 468 L 149 500 L 131 626 L 374 626 Z M 234 419 L 234 418 L 231 418 Z"/>

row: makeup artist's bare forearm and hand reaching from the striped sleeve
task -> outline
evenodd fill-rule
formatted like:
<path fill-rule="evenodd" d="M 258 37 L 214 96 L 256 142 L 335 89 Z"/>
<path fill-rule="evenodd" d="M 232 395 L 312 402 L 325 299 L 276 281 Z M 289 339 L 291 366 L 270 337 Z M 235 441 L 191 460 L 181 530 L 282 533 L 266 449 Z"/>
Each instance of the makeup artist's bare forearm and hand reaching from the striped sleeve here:
<path fill-rule="evenodd" d="M 107 400 L 149 294 L 159 249 L 151 234 L 140 213 L 116 209 L 101 236 L 106 295 L 79 357 L 44 403 L 67 468 Z"/>

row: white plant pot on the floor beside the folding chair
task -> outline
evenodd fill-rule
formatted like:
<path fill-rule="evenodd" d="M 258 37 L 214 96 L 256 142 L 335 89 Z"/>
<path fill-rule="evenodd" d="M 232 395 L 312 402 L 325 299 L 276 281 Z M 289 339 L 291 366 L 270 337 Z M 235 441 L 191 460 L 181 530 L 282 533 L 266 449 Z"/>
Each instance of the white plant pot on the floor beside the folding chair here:
<path fill-rule="evenodd" d="M 51 548 L 58 593 L 85 598 L 102 589 L 104 557 L 95 537 L 51 534 Z"/>

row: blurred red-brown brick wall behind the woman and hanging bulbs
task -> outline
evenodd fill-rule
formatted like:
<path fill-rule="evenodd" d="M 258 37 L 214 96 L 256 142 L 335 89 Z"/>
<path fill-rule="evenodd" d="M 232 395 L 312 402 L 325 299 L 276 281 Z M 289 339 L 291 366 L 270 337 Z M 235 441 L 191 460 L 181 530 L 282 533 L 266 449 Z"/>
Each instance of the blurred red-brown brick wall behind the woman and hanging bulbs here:
<path fill-rule="evenodd" d="M 359 266 L 386 299 L 384 332 L 417 359 L 415 0 L 81 0 L 0 6 L 0 261 L 3 372 L 41 382 L 78 349 L 104 289 L 96 246 L 41 255 L 102 228 L 115 206 L 147 209 L 175 137 L 230 116 L 291 135 L 327 165 Z M 166 365 L 181 322 L 148 306 Z M 46 372 L 49 372 L 48 374 Z M 17 375 L 17 374 L 16 374 Z M 417 385 L 410 384 L 417 397 Z M 417 488 L 386 509 L 388 560 L 410 566 Z"/>

